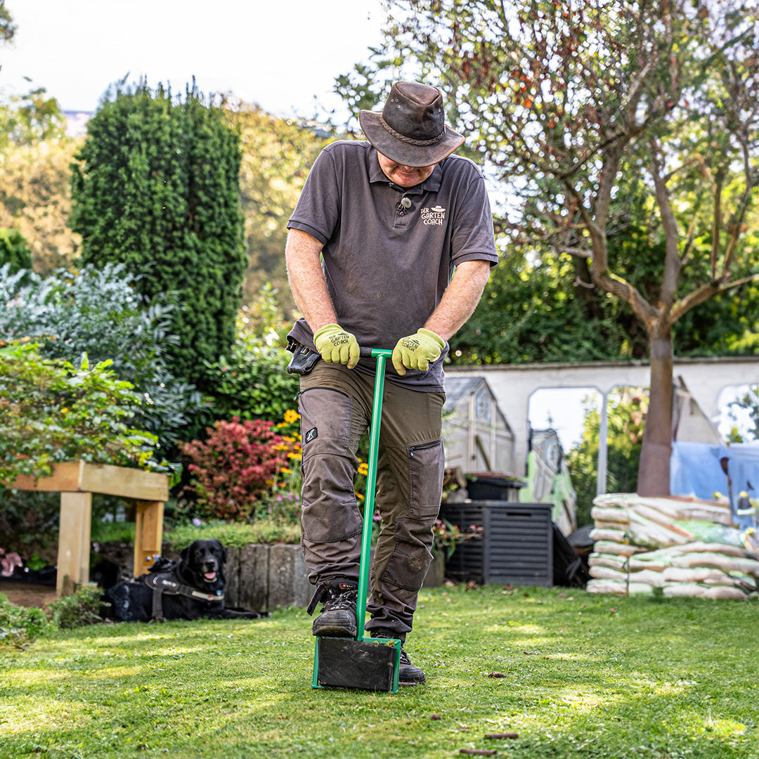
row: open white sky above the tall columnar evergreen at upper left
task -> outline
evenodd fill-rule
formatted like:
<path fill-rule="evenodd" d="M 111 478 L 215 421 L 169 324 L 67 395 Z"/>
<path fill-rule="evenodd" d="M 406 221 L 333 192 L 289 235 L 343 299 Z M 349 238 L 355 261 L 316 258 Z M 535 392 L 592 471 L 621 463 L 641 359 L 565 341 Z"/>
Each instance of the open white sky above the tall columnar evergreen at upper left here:
<path fill-rule="evenodd" d="M 17 30 L 0 49 L 0 90 L 46 87 L 92 112 L 128 75 L 184 92 L 229 92 L 277 115 L 340 105 L 335 77 L 381 39 L 381 0 L 6 0 Z M 24 77 L 30 77 L 30 84 Z"/>

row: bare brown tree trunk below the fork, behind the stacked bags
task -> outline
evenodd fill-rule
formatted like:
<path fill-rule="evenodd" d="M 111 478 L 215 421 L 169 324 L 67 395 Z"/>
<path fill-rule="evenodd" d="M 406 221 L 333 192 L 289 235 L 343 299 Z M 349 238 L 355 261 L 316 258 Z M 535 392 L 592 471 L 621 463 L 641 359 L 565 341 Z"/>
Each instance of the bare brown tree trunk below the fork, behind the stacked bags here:
<path fill-rule="evenodd" d="M 650 398 L 638 470 L 638 495 L 669 496 L 669 457 L 672 454 L 671 327 L 654 328 L 650 346 Z"/>

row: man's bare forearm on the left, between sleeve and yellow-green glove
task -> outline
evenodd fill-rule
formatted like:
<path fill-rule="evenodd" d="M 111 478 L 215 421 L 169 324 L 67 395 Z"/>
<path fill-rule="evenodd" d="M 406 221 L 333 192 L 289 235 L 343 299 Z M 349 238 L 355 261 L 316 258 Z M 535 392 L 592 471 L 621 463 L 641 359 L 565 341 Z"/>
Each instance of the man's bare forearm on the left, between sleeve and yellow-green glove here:
<path fill-rule="evenodd" d="M 312 332 L 337 323 L 320 260 L 322 244 L 300 229 L 291 229 L 285 247 L 288 280 L 295 304 Z"/>

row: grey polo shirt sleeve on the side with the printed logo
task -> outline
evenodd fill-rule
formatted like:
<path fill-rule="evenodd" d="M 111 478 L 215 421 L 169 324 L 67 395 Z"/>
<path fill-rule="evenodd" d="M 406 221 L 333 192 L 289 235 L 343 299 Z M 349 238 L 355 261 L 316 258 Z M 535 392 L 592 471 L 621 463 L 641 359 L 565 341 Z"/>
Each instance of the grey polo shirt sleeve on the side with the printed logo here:
<path fill-rule="evenodd" d="M 479 170 L 472 166 L 476 176 L 468 184 L 466 192 L 455 210 L 451 238 L 452 262 L 458 266 L 462 261 L 486 260 L 490 266 L 498 263 L 498 250 L 493 234 L 493 213 L 487 196 L 485 180 Z"/>

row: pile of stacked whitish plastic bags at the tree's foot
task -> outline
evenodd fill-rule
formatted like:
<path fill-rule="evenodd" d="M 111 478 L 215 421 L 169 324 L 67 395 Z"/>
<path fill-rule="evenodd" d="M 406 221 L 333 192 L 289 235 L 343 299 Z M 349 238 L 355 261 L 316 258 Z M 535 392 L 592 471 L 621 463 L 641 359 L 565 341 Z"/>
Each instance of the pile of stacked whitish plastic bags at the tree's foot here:
<path fill-rule="evenodd" d="M 591 516 L 591 593 L 757 597 L 759 546 L 732 525 L 727 503 L 609 493 Z"/>

